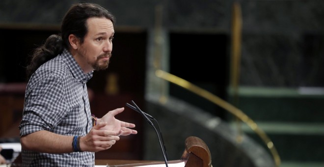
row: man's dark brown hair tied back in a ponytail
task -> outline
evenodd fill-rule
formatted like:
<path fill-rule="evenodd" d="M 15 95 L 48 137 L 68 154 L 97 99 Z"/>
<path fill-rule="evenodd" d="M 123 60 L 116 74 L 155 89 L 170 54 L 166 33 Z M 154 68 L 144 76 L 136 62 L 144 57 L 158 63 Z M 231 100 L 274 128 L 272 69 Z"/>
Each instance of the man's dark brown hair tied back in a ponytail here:
<path fill-rule="evenodd" d="M 27 66 L 27 80 L 30 76 L 48 60 L 63 52 L 63 48 L 70 50 L 69 35 L 77 36 L 83 43 L 84 36 L 88 32 L 86 21 L 89 18 L 105 17 L 115 22 L 114 16 L 105 8 L 94 3 L 73 4 L 63 17 L 61 25 L 61 36 L 51 35 L 44 45 L 36 48 L 31 55 L 30 64 Z"/>

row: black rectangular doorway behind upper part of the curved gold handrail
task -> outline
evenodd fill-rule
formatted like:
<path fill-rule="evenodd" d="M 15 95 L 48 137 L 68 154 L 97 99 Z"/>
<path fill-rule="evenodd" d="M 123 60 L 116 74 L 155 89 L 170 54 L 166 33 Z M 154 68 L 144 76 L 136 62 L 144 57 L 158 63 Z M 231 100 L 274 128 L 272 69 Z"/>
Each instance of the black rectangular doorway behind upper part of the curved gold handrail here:
<path fill-rule="evenodd" d="M 170 33 L 170 73 L 225 99 L 228 83 L 228 39 L 219 33 Z M 214 103 L 170 84 L 170 95 L 226 119 Z"/>

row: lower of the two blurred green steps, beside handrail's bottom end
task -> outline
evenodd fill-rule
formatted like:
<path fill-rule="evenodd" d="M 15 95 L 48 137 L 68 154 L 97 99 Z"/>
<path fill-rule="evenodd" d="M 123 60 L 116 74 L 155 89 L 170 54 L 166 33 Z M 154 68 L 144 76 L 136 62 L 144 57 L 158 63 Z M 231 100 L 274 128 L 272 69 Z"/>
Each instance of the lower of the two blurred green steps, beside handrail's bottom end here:
<path fill-rule="evenodd" d="M 237 128 L 236 122 L 231 122 Z M 282 162 L 324 164 L 324 123 L 256 122 L 273 142 Z M 263 140 L 244 123 L 244 133 L 266 148 Z M 290 162 L 290 163 L 289 163 Z M 299 167 L 299 166 L 298 166 Z M 313 167 L 313 166 L 312 166 Z"/>

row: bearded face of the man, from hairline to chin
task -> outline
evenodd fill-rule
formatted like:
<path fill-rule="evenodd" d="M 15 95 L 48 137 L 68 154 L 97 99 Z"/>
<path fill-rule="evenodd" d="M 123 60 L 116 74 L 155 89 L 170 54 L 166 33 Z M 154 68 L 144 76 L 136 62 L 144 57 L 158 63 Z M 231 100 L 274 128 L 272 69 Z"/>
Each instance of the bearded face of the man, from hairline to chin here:
<path fill-rule="evenodd" d="M 88 33 L 77 50 L 81 68 L 85 72 L 108 68 L 114 35 L 113 24 L 106 18 L 89 18 Z"/>

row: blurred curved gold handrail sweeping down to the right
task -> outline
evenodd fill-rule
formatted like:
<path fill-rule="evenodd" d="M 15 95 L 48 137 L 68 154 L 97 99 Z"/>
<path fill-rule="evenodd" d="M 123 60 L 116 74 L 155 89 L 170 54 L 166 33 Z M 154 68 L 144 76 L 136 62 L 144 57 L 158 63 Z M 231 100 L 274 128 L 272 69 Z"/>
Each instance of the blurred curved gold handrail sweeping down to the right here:
<path fill-rule="evenodd" d="M 225 109 L 226 111 L 229 111 L 233 115 L 237 116 L 237 118 L 239 118 L 244 123 L 246 123 L 265 142 L 265 144 L 267 145 L 267 147 L 269 148 L 269 150 L 272 154 L 272 157 L 274 159 L 276 166 L 279 167 L 281 160 L 280 160 L 278 152 L 277 152 L 276 148 L 274 147 L 272 141 L 267 136 L 267 134 L 264 131 L 262 131 L 251 118 L 249 118 L 245 113 L 243 113 L 243 111 L 237 109 L 236 107 L 232 106 L 231 104 L 227 103 L 226 101 L 222 100 L 221 98 L 217 97 L 216 95 L 210 93 L 209 91 L 206 91 L 206 90 L 204 90 L 192 83 L 189 83 L 188 81 L 186 81 L 182 78 L 179 78 L 175 75 L 172 75 L 172 74 L 167 73 L 162 70 L 156 70 L 155 75 L 159 78 L 162 78 L 162 79 L 168 81 L 168 82 L 171 82 L 171 83 L 177 84 L 181 87 L 184 87 L 184 88 L 188 89 L 189 91 L 211 101 L 212 103 L 220 106 L 221 108 Z"/>

